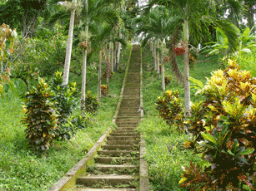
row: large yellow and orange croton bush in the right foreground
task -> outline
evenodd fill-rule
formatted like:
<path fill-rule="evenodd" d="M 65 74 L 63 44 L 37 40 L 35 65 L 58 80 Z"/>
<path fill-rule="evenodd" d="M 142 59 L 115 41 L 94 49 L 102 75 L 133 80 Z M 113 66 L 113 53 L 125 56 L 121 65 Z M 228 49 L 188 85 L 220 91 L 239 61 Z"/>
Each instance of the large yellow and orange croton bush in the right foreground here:
<path fill-rule="evenodd" d="M 204 165 L 183 168 L 180 187 L 189 190 L 255 190 L 256 79 L 236 61 L 213 72 L 198 94 L 184 146 L 201 154 Z"/>

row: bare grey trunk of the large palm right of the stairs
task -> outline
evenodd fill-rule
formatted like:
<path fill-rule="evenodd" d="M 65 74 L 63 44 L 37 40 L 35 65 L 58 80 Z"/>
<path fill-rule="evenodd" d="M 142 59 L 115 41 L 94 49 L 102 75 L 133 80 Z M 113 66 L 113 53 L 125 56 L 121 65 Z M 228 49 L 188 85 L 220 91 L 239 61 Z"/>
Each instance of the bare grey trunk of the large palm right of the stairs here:
<path fill-rule="evenodd" d="M 188 68 L 188 20 L 184 19 L 183 23 L 183 42 L 185 52 L 183 54 L 184 63 L 184 100 L 185 100 L 185 115 L 190 113 L 190 85 L 189 85 L 189 68 Z"/>

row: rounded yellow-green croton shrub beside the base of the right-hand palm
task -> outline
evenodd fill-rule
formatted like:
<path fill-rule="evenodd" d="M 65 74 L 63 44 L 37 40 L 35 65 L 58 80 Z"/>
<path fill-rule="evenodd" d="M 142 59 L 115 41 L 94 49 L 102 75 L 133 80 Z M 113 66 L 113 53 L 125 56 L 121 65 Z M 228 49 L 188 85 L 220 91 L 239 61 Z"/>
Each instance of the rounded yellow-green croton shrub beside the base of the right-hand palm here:
<path fill-rule="evenodd" d="M 184 110 L 178 91 L 164 91 L 163 95 L 158 97 L 156 106 L 159 116 L 168 125 L 175 125 L 183 130 Z"/>

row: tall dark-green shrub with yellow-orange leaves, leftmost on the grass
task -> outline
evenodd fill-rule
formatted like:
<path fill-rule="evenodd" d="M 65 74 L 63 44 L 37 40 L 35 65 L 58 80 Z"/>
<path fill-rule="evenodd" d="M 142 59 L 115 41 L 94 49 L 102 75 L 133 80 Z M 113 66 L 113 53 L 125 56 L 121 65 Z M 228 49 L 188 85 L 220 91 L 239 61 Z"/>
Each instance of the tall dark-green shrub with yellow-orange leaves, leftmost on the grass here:
<path fill-rule="evenodd" d="M 23 111 L 26 114 L 22 123 L 28 125 L 25 130 L 28 144 L 38 152 L 49 149 L 58 125 L 58 115 L 51 100 L 53 91 L 48 84 L 39 79 L 38 87 L 28 92 Z"/>

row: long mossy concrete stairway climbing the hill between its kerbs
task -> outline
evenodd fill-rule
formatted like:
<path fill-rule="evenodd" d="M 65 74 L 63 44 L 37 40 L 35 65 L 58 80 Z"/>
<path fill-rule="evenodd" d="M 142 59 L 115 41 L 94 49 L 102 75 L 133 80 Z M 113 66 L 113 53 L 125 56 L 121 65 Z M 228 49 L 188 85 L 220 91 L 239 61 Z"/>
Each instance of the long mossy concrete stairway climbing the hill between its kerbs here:
<path fill-rule="evenodd" d="M 116 125 L 95 165 L 76 181 L 79 191 L 136 191 L 139 184 L 140 46 L 133 45 L 128 76 Z"/>

